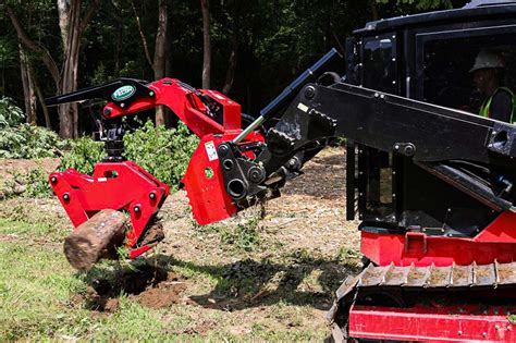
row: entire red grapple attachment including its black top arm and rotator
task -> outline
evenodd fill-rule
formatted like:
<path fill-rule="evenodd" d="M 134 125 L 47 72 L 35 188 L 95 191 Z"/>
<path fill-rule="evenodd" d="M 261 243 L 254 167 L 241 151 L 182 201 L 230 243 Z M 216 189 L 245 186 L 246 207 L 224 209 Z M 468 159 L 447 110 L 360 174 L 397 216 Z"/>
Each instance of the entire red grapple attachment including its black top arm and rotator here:
<path fill-rule="evenodd" d="M 128 98 L 119 94 L 131 90 Z M 194 217 L 199 224 L 212 223 L 236 213 L 237 208 L 225 193 L 217 148 L 233 139 L 241 130 L 241 106 L 217 90 L 195 89 L 176 78 L 147 84 L 120 78 L 106 85 L 79 89 L 47 100 L 58 105 L 105 98 L 109 102 L 101 113 L 101 137 L 106 140 L 109 162 L 97 163 L 93 176 L 69 169 L 52 173 L 50 184 L 75 228 L 105 209 L 128 213 L 131 229 L 126 234 L 130 257 L 150 249 L 163 234 L 153 222 L 155 215 L 169 195 L 169 186 L 123 157 L 123 130 L 120 118 L 167 106 L 200 138 L 200 145 L 183 179 Z M 102 123 L 100 121 L 100 123 Z M 263 142 L 258 133 L 245 143 Z M 253 152 L 245 152 L 254 158 Z"/>

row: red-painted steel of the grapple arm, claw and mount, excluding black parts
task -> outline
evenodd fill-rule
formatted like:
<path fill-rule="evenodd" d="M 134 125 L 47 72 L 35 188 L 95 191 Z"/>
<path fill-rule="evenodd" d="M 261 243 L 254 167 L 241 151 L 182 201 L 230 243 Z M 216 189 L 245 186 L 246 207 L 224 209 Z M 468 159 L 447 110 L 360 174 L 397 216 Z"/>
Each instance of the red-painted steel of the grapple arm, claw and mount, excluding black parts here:
<path fill-rule="evenodd" d="M 170 108 L 201 138 L 183 179 L 195 219 L 199 224 L 207 224 L 233 216 L 236 207 L 223 191 L 216 151 L 222 142 L 242 132 L 241 106 L 216 90 L 196 90 L 220 106 L 223 119 L 222 123 L 218 123 L 208 115 L 198 96 L 179 79 L 163 78 L 147 87 L 153 91 L 153 97 L 136 99 L 125 109 L 109 102 L 102 115 L 109 120 L 160 105 Z M 251 133 L 243 144 L 262 140 L 259 133 Z M 135 162 L 99 162 L 95 166 L 93 176 L 69 169 L 50 174 L 49 182 L 75 228 L 102 209 L 124 210 L 130 213 L 132 223 L 126 235 L 126 246 L 132 248 L 130 257 L 135 258 L 153 246 L 138 246 L 138 241 L 170 188 Z"/>

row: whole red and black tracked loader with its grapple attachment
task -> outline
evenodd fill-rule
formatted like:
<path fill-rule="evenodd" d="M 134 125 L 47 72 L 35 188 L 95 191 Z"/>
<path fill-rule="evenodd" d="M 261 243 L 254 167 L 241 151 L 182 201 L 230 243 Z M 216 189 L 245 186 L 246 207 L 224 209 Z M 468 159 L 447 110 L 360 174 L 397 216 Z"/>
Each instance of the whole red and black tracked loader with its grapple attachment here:
<path fill-rule="evenodd" d="M 173 78 L 54 97 L 109 100 L 108 157 L 93 176 L 49 180 L 76 226 L 105 209 L 130 213 L 136 257 L 156 243 L 146 236 L 169 188 L 124 160 L 123 115 L 164 105 L 200 137 L 183 179 L 199 224 L 279 196 L 345 137 L 346 217 L 361 220 L 367 264 L 336 292 L 333 338 L 516 342 L 516 125 L 475 114 L 469 71 L 486 50 L 504 57 L 505 86 L 516 87 L 516 3 L 368 23 L 346 40 L 345 61 L 331 50 L 244 130 L 235 101 Z"/>

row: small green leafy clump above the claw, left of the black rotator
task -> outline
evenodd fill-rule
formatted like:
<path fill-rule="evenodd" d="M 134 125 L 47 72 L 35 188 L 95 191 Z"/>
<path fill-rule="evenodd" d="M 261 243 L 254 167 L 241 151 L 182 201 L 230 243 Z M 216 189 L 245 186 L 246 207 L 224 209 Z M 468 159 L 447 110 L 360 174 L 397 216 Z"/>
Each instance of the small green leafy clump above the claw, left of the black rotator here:
<path fill-rule="evenodd" d="M 99 162 L 103 156 L 103 144 L 101 142 L 82 137 L 73 142 L 72 149 L 62 157 L 58 169 L 74 168 L 82 173 L 93 174 L 95 163 Z"/>

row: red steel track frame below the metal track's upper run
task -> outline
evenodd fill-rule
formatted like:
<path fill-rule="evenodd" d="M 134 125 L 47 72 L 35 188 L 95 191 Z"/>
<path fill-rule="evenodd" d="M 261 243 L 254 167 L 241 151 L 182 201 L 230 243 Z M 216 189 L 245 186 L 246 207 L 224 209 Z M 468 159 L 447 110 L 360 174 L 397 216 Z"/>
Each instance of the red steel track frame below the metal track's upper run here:
<path fill-rule="evenodd" d="M 502 306 L 393 308 L 353 305 L 349 335 L 374 340 L 417 342 L 516 342 Z"/>

